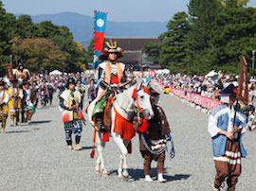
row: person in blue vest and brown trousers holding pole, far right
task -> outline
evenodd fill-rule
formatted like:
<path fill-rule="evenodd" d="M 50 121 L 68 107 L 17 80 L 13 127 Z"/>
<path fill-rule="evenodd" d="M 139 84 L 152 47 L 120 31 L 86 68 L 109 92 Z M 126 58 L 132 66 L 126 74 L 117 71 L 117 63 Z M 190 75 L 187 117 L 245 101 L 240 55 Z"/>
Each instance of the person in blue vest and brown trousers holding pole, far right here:
<path fill-rule="evenodd" d="M 241 157 L 247 156 L 247 151 L 242 144 L 242 137 L 247 127 L 247 117 L 238 111 L 236 116 L 234 114 L 234 107 L 229 100 L 231 96 L 236 95 L 233 84 L 223 89 L 220 95 L 224 104 L 210 112 L 208 124 L 216 168 L 213 190 L 220 190 L 222 182 L 228 178 L 228 190 L 233 191 L 241 174 Z M 235 124 L 233 125 L 234 116 Z M 229 139 L 228 136 L 231 138 Z"/>

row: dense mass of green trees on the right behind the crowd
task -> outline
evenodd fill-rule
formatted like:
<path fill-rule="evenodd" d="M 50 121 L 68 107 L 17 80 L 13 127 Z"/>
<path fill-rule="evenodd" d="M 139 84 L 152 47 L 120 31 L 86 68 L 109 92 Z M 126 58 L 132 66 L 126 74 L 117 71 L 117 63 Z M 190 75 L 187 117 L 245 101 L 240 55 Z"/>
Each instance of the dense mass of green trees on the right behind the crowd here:
<path fill-rule="evenodd" d="M 205 75 L 215 69 L 238 74 L 242 55 L 249 63 L 256 49 L 256 9 L 247 8 L 248 2 L 191 0 L 189 14 L 177 12 L 159 35 L 160 43 L 145 44 L 142 51 L 172 73 Z"/>

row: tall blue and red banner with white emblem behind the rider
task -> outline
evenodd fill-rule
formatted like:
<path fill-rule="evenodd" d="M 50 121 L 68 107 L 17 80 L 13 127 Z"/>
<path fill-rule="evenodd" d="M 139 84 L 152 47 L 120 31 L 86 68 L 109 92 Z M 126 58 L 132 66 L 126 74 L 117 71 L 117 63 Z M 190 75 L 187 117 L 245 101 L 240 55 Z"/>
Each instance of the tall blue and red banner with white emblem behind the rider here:
<path fill-rule="evenodd" d="M 100 60 L 99 56 L 101 55 L 103 42 L 104 42 L 104 34 L 106 27 L 106 12 L 94 11 L 94 60 L 93 60 L 93 68 L 97 68 Z"/>

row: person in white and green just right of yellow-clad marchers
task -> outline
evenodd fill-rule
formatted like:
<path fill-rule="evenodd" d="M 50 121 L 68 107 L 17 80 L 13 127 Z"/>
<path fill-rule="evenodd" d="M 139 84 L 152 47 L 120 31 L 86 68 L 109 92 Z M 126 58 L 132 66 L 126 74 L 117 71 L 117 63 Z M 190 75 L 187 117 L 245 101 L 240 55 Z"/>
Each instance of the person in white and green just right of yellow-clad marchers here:
<path fill-rule="evenodd" d="M 35 113 L 35 104 L 36 104 L 36 93 L 31 87 L 29 87 L 28 81 L 24 81 L 23 85 L 24 93 L 24 113 L 26 114 L 27 124 L 31 123 L 32 115 Z"/>

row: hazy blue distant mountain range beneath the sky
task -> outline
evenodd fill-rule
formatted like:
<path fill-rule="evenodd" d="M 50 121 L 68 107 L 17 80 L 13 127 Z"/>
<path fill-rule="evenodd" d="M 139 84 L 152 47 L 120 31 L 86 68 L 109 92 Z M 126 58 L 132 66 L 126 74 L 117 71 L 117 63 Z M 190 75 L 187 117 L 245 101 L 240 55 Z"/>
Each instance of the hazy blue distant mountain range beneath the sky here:
<path fill-rule="evenodd" d="M 22 14 L 17 14 L 17 16 Z M 88 45 L 93 38 L 93 17 L 74 12 L 31 15 L 34 23 L 51 21 L 54 25 L 67 26 L 74 40 Z M 157 37 L 166 31 L 167 22 L 111 22 L 107 21 L 105 36 Z"/>

